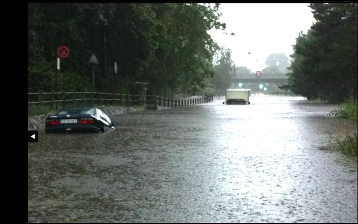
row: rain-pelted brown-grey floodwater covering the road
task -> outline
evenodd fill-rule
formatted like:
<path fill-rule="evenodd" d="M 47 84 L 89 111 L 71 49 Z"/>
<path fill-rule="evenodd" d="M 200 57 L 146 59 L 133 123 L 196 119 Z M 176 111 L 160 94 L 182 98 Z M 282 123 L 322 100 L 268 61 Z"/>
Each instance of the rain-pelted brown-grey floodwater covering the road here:
<path fill-rule="evenodd" d="M 29 143 L 29 222 L 357 223 L 357 130 L 336 105 L 255 96 L 120 115 L 103 134 Z M 337 107 L 337 106 L 336 106 Z"/>

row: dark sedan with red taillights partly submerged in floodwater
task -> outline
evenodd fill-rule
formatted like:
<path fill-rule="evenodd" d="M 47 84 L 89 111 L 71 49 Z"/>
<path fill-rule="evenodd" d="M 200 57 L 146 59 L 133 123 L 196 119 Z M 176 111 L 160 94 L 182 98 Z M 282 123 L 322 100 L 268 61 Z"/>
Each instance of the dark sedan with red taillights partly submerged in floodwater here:
<path fill-rule="evenodd" d="M 117 122 L 112 122 L 108 115 L 95 107 L 66 108 L 46 117 L 45 131 L 91 131 L 105 132 L 116 129 Z"/>

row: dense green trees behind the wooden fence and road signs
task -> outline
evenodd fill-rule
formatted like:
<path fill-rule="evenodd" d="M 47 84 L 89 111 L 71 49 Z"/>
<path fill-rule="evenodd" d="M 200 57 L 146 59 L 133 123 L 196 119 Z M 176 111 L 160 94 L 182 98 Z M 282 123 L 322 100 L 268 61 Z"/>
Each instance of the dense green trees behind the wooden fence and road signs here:
<path fill-rule="evenodd" d="M 225 28 L 218 9 L 219 4 L 198 3 L 31 3 L 29 90 L 90 90 L 93 53 L 100 63 L 96 90 L 135 91 L 140 81 L 152 93 L 195 92 L 214 74 L 219 47 L 207 31 Z M 70 55 L 61 59 L 56 75 L 61 45 Z"/>

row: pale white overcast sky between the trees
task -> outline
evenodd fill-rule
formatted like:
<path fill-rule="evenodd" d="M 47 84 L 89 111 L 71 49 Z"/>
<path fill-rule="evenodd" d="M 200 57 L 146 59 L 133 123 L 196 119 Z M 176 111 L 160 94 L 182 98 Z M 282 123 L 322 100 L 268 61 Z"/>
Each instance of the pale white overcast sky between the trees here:
<path fill-rule="evenodd" d="M 232 50 L 236 66 L 246 66 L 255 72 L 266 67 L 265 60 L 271 53 L 284 53 L 290 58 L 298 34 L 307 33 L 316 21 L 308 5 L 222 3 L 220 21 L 226 23 L 226 29 L 208 33 L 220 47 Z M 230 35 L 232 32 L 235 35 Z"/>

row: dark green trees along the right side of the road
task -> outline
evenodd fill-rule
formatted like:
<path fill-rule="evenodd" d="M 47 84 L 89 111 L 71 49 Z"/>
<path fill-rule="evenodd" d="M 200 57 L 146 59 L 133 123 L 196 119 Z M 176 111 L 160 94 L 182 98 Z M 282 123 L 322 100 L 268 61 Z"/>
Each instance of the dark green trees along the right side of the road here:
<path fill-rule="evenodd" d="M 296 39 L 289 85 L 284 88 L 323 101 L 357 97 L 357 3 L 311 3 L 317 20 Z"/>

